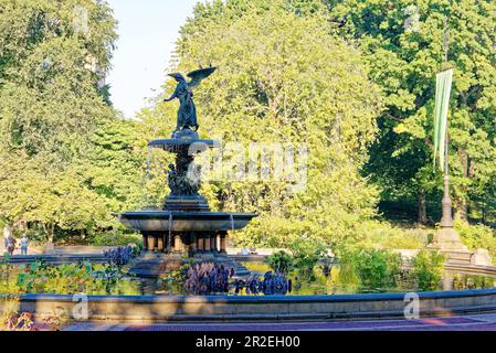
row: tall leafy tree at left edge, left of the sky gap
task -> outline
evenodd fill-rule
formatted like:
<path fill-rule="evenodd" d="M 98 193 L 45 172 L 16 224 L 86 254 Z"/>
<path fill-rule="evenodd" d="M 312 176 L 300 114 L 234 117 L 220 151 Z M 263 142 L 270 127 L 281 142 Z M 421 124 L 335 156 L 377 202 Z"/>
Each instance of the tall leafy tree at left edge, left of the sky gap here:
<path fill-rule="evenodd" d="M 0 217 L 53 237 L 115 224 L 137 202 L 134 125 L 102 78 L 116 21 L 105 2 L 0 3 Z M 136 186 L 133 186 L 136 185 Z"/>

